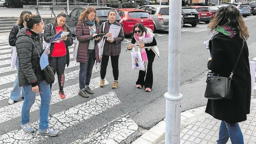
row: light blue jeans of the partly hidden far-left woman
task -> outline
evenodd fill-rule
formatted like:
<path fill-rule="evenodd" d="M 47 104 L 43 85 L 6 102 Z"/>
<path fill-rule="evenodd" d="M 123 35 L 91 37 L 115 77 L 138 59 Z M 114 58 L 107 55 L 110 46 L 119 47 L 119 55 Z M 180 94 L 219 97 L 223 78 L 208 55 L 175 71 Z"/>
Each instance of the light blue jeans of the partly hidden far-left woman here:
<path fill-rule="evenodd" d="M 16 59 L 16 72 L 17 76 L 13 84 L 13 90 L 11 91 L 10 99 L 14 101 L 18 101 L 20 97 L 21 88 L 19 87 L 19 79 L 18 79 L 18 70 L 19 70 L 19 58 Z M 22 91 L 22 95 L 24 96 L 24 92 Z"/>

